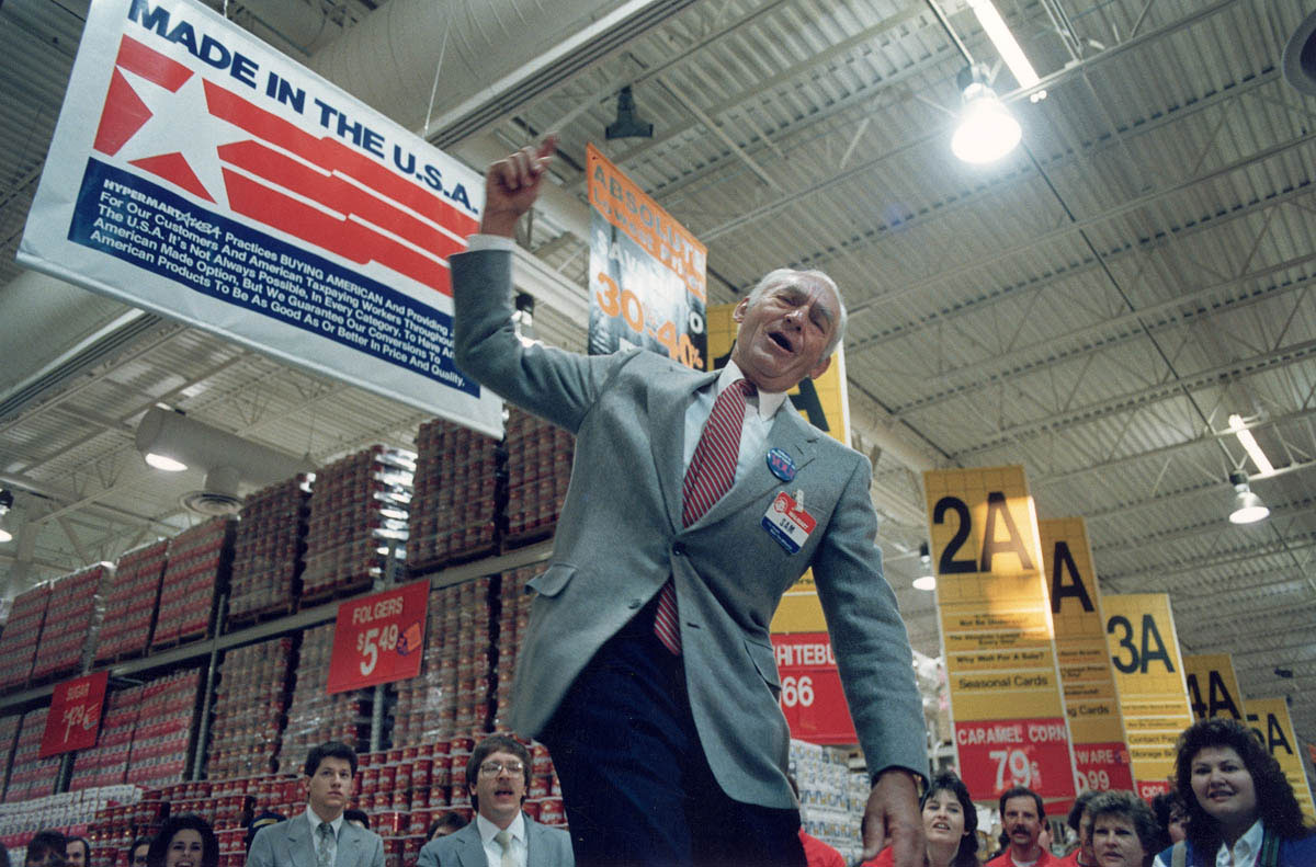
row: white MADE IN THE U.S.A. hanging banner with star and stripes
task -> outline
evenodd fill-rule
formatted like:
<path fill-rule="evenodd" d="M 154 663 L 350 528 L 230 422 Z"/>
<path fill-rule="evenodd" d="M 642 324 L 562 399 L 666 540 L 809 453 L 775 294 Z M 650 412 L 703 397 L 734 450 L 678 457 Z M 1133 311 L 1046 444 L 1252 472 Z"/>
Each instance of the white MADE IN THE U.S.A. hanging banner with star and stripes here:
<path fill-rule="evenodd" d="M 91 4 L 18 260 L 492 435 L 447 258 L 482 179 L 192 0 Z"/>

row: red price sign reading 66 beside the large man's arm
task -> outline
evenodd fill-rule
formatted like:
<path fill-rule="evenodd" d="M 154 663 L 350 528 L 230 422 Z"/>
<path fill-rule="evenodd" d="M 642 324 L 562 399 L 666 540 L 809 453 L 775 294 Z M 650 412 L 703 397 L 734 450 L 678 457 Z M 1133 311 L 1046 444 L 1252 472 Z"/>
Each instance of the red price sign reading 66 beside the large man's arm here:
<path fill-rule="evenodd" d="M 772 635 L 782 678 L 778 700 L 791 737 L 809 743 L 857 743 L 826 633 Z"/>

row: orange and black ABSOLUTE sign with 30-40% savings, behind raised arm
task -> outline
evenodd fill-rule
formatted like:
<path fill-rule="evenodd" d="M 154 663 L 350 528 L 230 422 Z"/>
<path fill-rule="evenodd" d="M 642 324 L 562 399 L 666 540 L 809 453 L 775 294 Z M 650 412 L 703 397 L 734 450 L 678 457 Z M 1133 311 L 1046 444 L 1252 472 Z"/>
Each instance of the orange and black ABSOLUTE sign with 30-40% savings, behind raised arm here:
<path fill-rule="evenodd" d="M 586 172 L 590 354 L 640 346 L 704 370 L 708 249 L 594 145 Z"/>

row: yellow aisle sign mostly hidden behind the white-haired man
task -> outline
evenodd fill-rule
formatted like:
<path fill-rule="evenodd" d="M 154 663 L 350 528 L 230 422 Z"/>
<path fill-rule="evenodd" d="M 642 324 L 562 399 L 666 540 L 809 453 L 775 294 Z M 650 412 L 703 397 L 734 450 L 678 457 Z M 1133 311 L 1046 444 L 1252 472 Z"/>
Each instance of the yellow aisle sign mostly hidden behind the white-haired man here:
<path fill-rule="evenodd" d="M 721 370 L 736 342 L 734 304 L 708 308 L 708 370 Z M 845 347 L 837 346 L 832 366 L 817 379 L 804 379 L 790 392 L 791 405 L 804 418 L 833 439 L 850 445 L 850 401 L 845 391 Z M 813 587 L 813 571 L 804 572 L 795 587 L 786 591 L 772 617 L 774 633 L 826 632 L 822 608 Z"/>

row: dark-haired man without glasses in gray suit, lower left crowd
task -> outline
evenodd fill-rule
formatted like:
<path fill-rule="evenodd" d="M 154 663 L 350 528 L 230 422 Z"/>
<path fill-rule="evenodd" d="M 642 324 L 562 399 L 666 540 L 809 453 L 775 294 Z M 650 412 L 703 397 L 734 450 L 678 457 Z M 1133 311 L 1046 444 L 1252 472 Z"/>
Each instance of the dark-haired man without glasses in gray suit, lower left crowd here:
<path fill-rule="evenodd" d="M 384 841 L 342 817 L 357 776 L 357 753 L 329 741 L 311 750 L 307 810 L 262 828 L 247 867 L 384 867 Z"/>

